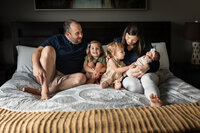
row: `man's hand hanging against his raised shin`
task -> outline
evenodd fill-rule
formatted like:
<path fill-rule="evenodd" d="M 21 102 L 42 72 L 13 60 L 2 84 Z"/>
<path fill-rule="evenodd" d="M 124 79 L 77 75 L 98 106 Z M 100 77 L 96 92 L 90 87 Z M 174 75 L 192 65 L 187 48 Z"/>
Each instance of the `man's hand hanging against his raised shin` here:
<path fill-rule="evenodd" d="M 33 75 L 40 82 L 40 85 L 42 85 L 46 79 L 46 72 L 41 67 L 37 67 L 35 69 L 33 67 Z"/>

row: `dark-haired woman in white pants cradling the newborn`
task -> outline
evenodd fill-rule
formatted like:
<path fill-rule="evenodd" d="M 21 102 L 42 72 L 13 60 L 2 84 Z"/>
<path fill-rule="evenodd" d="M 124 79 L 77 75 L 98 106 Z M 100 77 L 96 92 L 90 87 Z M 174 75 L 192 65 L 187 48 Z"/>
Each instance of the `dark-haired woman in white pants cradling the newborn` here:
<path fill-rule="evenodd" d="M 120 41 L 120 39 L 114 39 L 114 41 Z M 125 57 L 123 61 L 126 65 L 135 62 L 153 48 L 151 43 L 144 41 L 143 30 L 136 23 L 131 23 L 125 28 L 121 42 L 124 44 Z M 135 93 L 144 93 L 150 100 L 151 106 L 161 106 L 162 101 L 159 98 L 157 86 L 159 77 L 154 73 L 159 69 L 159 66 L 159 61 L 137 66 L 131 77 L 123 79 L 124 88 Z"/>

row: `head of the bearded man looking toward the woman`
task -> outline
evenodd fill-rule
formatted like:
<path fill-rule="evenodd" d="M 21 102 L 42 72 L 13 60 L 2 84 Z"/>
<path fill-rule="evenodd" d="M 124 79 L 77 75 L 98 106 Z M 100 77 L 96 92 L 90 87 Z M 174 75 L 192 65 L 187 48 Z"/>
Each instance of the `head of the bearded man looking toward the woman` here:
<path fill-rule="evenodd" d="M 81 25 L 72 22 L 70 27 L 70 32 L 65 33 L 66 37 L 69 39 L 70 42 L 72 42 L 72 44 L 81 43 L 83 38 Z"/>

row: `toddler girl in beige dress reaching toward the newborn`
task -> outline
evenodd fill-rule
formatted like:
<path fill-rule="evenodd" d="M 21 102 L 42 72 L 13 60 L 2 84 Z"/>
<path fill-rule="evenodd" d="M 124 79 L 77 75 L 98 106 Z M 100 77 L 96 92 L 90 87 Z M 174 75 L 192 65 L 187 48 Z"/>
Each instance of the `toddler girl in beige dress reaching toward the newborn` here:
<path fill-rule="evenodd" d="M 126 66 L 121 60 L 124 59 L 125 52 L 124 46 L 120 42 L 111 42 L 108 44 L 106 56 L 108 58 L 107 70 L 101 77 L 101 88 L 108 86 L 114 86 L 116 90 L 122 87 L 121 81 L 123 74 L 130 68 L 133 68 L 133 64 Z"/>

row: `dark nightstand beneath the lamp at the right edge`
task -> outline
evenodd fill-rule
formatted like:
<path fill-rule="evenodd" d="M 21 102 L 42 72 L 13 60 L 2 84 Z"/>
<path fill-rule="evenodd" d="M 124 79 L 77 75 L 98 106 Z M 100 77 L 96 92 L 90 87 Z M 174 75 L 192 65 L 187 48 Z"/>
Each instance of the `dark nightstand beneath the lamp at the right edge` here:
<path fill-rule="evenodd" d="M 175 76 L 200 89 L 200 65 L 174 63 L 172 72 Z"/>

